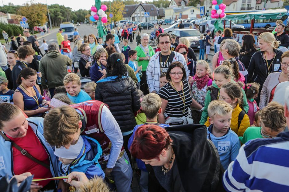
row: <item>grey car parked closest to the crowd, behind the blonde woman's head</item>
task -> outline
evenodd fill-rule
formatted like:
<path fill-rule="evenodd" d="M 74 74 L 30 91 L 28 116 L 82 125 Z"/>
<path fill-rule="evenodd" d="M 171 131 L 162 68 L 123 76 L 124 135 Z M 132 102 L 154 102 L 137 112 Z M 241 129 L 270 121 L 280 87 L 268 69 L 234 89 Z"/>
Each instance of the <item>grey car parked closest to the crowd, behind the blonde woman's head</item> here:
<path fill-rule="evenodd" d="M 176 36 L 176 43 L 179 43 L 181 37 L 186 37 L 190 43 L 192 49 L 200 48 L 200 31 L 197 29 L 175 29 L 172 35 Z"/>

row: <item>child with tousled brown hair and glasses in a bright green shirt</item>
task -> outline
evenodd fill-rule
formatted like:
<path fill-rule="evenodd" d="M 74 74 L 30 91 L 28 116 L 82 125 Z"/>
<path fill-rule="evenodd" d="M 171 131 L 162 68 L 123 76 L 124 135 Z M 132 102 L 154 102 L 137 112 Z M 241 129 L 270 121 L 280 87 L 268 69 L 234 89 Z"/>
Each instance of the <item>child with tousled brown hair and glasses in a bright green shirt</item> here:
<path fill-rule="evenodd" d="M 243 135 L 239 137 L 241 143 L 251 139 L 275 138 L 286 128 L 284 107 L 277 102 L 271 102 L 261 110 L 261 126 L 248 127 Z"/>

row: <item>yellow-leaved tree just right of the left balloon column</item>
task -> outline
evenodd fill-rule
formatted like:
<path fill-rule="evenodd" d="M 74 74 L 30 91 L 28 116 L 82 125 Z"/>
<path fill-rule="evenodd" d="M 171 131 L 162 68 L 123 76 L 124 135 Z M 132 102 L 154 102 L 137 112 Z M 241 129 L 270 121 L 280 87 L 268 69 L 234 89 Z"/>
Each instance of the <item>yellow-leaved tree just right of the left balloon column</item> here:
<path fill-rule="evenodd" d="M 123 18 L 124 10 L 125 10 L 125 4 L 121 0 L 114 0 L 111 5 L 110 9 L 109 6 L 107 7 L 108 13 L 106 13 L 108 16 L 110 13 L 113 14 L 112 21 L 116 22 Z M 110 23 L 110 17 L 107 18 Z"/>

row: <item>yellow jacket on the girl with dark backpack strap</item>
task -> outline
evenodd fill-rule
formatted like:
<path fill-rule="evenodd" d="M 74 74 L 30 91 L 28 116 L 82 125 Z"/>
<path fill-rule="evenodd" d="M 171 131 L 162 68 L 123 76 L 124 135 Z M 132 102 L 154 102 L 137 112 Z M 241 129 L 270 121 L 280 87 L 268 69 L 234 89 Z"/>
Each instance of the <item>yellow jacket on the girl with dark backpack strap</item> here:
<path fill-rule="evenodd" d="M 239 137 L 242 137 L 245 130 L 250 126 L 249 116 L 245 114 L 238 129 L 238 117 L 241 111 L 242 111 L 241 107 L 239 106 L 239 104 L 237 104 L 237 106 L 233 109 L 232 120 L 230 125 L 232 131 L 234 131 Z M 207 122 L 205 122 L 205 126 L 208 127 L 210 125 L 211 124 L 209 123 L 209 120 L 207 120 Z"/>

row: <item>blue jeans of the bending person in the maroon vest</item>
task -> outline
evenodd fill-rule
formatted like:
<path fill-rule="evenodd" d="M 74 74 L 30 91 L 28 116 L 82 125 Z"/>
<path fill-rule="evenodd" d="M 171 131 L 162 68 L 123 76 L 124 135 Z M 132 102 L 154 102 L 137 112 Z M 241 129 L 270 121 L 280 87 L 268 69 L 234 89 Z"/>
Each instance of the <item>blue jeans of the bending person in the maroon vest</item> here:
<path fill-rule="evenodd" d="M 123 156 L 117 160 L 113 171 L 110 173 L 113 176 L 117 191 L 120 192 L 131 192 L 130 187 L 133 179 L 133 170 L 129 163 L 129 157 L 126 152 Z"/>

